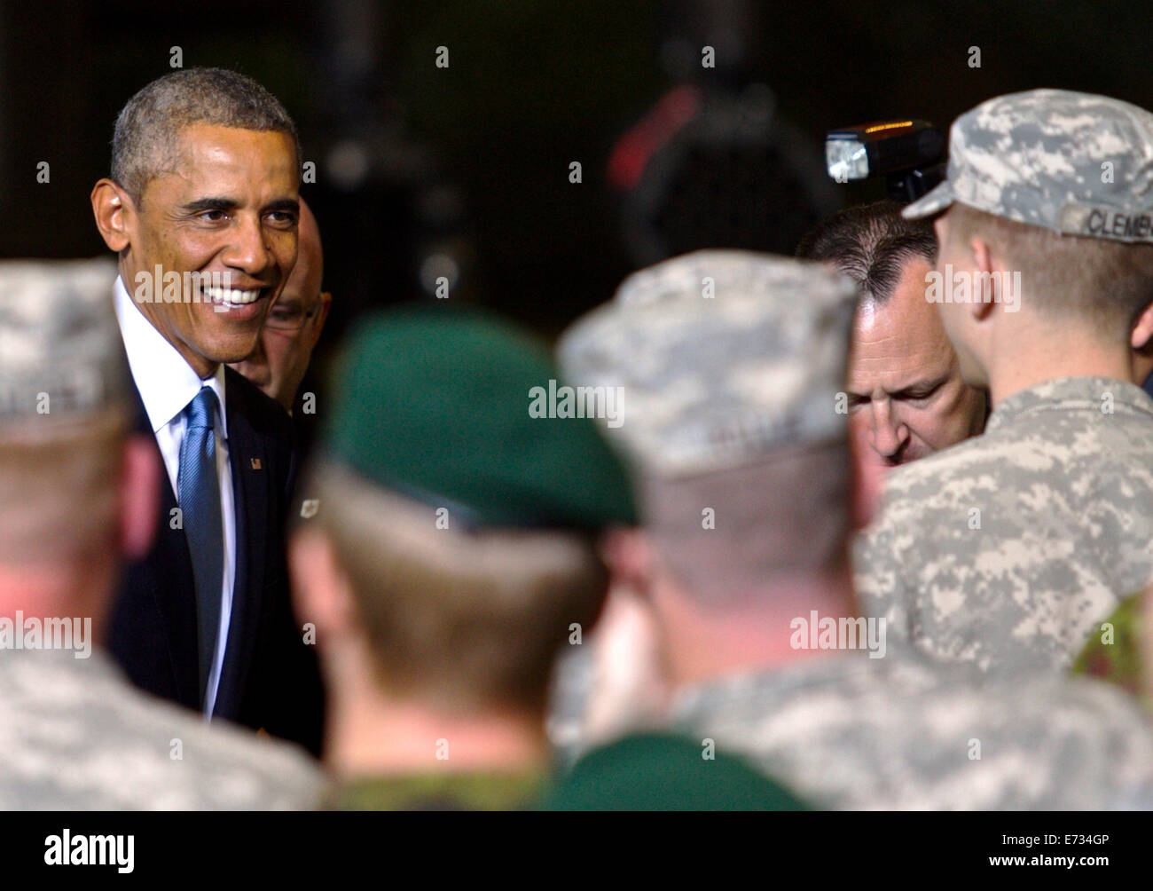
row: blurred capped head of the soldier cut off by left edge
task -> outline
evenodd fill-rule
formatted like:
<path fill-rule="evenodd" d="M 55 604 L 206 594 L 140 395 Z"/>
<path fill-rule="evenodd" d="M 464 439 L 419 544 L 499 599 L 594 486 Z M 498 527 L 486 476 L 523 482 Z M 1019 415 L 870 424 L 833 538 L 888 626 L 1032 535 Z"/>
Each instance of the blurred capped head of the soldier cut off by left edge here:
<path fill-rule="evenodd" d="M 0 616 L 91 619 L 151 542 L 159 465 L 129 436 L 104 261 L 0 263 Z"/>

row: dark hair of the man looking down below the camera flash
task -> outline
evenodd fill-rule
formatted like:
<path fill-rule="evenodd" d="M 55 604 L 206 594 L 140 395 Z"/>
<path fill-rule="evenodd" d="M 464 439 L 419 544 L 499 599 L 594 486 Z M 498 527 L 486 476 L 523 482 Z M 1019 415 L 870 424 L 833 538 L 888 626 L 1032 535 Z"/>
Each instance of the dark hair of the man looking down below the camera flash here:
<path fill-rule="evenodd" d="M 899 204 L 877 201 L 819 223 L 797 247 L 797 256 L 835 264 L 864 297 L 884 304 L 910 260 L 935 261 L 936 238 L 930 222 L 905 219 Z"/>

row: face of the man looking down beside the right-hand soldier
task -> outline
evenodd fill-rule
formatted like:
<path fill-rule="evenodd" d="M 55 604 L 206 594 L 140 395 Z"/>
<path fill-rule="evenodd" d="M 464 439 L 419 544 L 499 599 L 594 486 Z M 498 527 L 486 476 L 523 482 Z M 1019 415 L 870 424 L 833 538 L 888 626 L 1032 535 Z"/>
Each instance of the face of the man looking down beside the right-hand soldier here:
<path fill-rule="evenodd" d="M 927 261 L 905 264 L 886 301 L 866 298 L 853 321 L 850 424 L 867 459 L 891 466 L 981 432 L 985 394 L 965 384 L 936 306 L 925 298 Z"/>

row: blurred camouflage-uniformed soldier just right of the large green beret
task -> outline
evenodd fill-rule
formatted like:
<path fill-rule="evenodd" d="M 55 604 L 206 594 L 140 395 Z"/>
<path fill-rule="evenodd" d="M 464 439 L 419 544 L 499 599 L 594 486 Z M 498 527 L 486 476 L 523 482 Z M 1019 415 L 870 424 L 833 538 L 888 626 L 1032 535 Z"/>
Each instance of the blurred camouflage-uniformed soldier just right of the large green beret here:
<path fill-rule="evenodd" d="M 610 553 L 668 642 L 666 724 L 822 807 L 1150 807 L 1153 736 L 1108 686 L 979 686 L 883 626 L 867 646 L 801 632 L 857 615 L 838 398 L 852 297 L 812 263 L 700 252 L 631 277 L 560 340 L 571 382 L 623 388 L 608 433 L 643 532 Z"/>

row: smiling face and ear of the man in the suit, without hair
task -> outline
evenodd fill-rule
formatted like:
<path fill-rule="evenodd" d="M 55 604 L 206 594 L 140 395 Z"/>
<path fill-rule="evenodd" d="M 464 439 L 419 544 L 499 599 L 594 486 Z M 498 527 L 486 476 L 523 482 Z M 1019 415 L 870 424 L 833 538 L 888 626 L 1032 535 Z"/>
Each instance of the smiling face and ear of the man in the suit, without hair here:
<path fill-rule="evenodd" d="M 108 179 L 92 190 L 97 226 L 120 254 L 129 294 L 151 278 L 141 312 L 202 379 L 240 361 L 296 261 L 300 214 L 295 143 L 288 134 L 193 123 L 180 132 L 174 169 L 155 175 L 141 200 Z M 161 275 L 199 272 L 193 293 L 160 299 Z M 218 278 L 219 277 L 219 278 Z M 226 289 L 210 282 L 224 280 Z"/>

